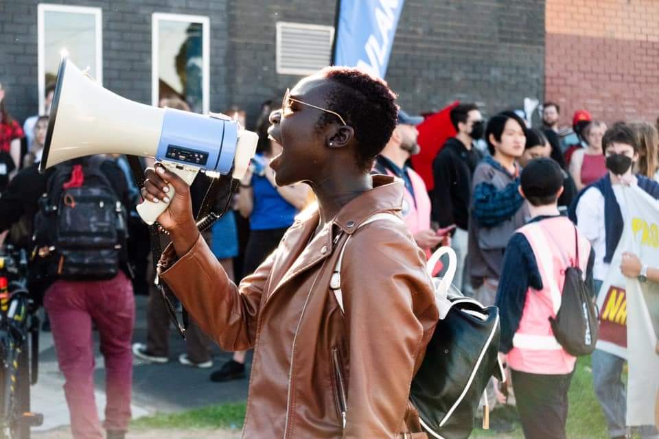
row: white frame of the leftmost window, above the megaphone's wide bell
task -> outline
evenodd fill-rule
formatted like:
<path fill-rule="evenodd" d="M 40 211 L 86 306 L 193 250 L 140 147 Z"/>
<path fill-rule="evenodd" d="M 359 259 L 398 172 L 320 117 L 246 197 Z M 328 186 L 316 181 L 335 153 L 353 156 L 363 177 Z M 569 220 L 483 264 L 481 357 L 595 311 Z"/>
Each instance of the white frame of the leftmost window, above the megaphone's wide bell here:
<path fill-rule="evenodd" d="M 38 45 L 38 87 L 39 87 L 39 114 L 44 111 L 44 93 L 45 84 L 45 13 L 46 12 L 69 12 L 72 14 L 91 14 L 95 18 L 95 49 L 96 49 L 96 69 L 95 80 L 98 84 L 103 85 L 103 11 L 101 8 L 91 8 L 88 6 L 69 6 L 54 5 L 51 3 L 39 3 L 37 7 L 37 45 Z M 64 49 L 64 47 L 62 47 Z M 84 69 L 86 66 L 78 66 Z"/>

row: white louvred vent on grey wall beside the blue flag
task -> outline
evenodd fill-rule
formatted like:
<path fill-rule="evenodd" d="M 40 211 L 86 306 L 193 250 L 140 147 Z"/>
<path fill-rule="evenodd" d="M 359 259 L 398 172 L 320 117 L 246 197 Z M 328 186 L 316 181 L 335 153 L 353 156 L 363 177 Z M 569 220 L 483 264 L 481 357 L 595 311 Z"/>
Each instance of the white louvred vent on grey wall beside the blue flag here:
<path fill-rule="evenodd" d="M 334 27 L 277 23 L 277 73 L 309 75 L 332 61 Z"/>

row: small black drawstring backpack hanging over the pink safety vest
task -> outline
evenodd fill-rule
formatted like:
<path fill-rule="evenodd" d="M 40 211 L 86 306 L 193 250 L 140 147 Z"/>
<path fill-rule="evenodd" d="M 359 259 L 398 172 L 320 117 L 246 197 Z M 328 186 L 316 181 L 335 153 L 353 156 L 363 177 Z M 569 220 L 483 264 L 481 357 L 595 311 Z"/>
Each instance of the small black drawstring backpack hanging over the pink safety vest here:
<path fill-rule="evenodd" d="M 590 355 L 595 350 L 599 333 L 597 308 L 592 300 L 592 290 L 583 281 L 579 268 L 579 235 L 575 227 L 577 260 L 568 264 L 561 296 L 561 306 L 556 318 L 549 318 L 556 341 L 575 357 Z"/>

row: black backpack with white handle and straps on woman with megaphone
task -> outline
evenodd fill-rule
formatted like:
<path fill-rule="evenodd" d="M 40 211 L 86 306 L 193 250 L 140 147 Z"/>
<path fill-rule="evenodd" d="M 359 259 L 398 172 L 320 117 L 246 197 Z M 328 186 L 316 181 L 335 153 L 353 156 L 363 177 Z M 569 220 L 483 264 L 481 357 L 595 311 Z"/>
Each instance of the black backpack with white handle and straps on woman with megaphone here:
<path fill-rule="evenodd" d="M 402 221 L 391 213 L 376 213 L 360 227 L 378 219 Z M 329 285 L 341 311 L 340 270 L 348 241 L 340 250 Z M 428 272 L 432 272 L 444 254 L 450 260 L 448 274 L 443 279 L 433 279 L 439 321 L 412 380 L 410 401 L 428 437 L 466 439 L 474 429 L 476 411 L 489 379 L 493 376 L 499 381 L 505 379 L 498 361 L 499 311 L 497 307 L 484 307 L 477 300 L 463 296 L 450 284 L 456 270 L 452 248 L 436 250 L 428 260 Z"/>

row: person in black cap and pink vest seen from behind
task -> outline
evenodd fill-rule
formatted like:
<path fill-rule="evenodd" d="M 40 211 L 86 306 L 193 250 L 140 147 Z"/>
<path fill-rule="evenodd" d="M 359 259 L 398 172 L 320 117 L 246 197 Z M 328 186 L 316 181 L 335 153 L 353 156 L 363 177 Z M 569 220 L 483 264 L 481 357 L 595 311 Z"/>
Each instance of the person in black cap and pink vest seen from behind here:
<path fill-rule="evenodd" d="M 496 296 L 499 350 L 511 369 L 524 438 L 565 439 L 577 359 L 557 342 L 549 318 L 556 318 L 561 306 L 568 266 L 578 266 L 593 291 L 594 252 L 575 224 L 559 213 L 563 174 L 558 163 L 535 158 L 520 180 L 531 220 L 513 234 L 505 252 Z"/>

